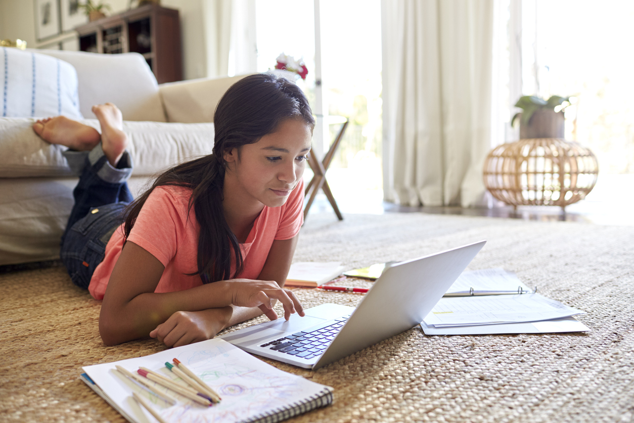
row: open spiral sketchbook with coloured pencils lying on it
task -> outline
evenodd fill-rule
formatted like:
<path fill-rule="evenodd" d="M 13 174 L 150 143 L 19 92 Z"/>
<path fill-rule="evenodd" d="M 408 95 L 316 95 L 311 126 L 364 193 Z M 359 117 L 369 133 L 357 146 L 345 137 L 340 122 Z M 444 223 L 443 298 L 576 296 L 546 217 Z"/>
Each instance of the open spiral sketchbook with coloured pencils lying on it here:
<path fill-rule="evenodd" d="M 177 382 L 165 367 L 177 358 L 218 393 L 222 400 L 205 407 L 170 389 L 154 384 L 152 389 L 176 398 L 171 405 L 149 389 L 116 370 L 135 372 L 140 367 Z M 222 339 L 210 339 L 145 357 L 129 358 L 83 368 L 81 379 L 132 423 L 156 422 L 148 410 L 134 400 L 135 392 L 150 404 L 165 422 L 279 422 L 333 401 L 332 387 L 279 370 Z"/>

